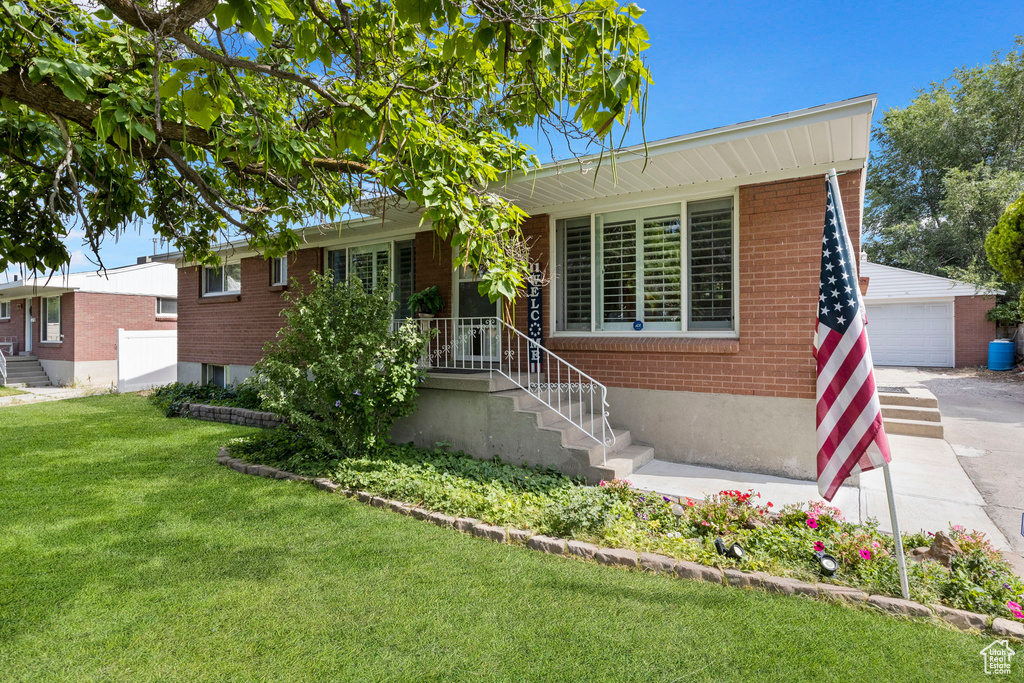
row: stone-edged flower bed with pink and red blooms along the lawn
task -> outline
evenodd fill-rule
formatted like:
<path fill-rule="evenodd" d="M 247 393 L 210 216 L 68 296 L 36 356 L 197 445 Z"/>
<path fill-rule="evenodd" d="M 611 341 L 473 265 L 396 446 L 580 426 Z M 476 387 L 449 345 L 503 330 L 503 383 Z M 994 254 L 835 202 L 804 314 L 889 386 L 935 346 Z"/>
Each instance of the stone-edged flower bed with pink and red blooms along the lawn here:
<path fill-rule="evenodd" d="M 328 477 L 344 488 L 489 524 L 722 568 L 900 594 L 893 539 L 880 532 L 873 521 L 848 522 L 841 511 L 820 503 L 775 510 L 753 490 L 676 501 L 639 490 L 628 481 L 586 486 L 551 470 L 413 445 L 325 463 L 288 429 L 236 439 L 228 449 L 248 463 Z M 745 553 L 738 559 L 721 554 L 718 539 L 725 546 L 739 544 Z M 1019 604 L 1024 602 L 1024 583 L 983 533 L 952 526 L 937 536 L 907 535 L 904 547 L 914 558 L 907 562 L 912 599 L 1024 620 Z M 952 551 L 943 556 L 937 552 L 941 548 Z M 836 558 L 835 575 L 822 575 L 819 553 Z"/>

